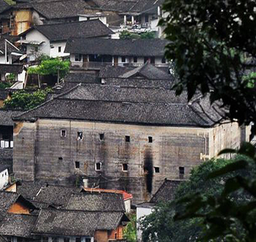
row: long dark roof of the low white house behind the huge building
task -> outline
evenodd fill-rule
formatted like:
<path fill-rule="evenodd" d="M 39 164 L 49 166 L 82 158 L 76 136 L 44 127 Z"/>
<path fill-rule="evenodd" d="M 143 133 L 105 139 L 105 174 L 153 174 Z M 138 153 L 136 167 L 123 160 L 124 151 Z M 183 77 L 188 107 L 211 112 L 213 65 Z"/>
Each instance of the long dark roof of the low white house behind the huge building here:
<path fill-rule="evenodd" d="M 165 39 L 83 39 L 66 43 L 65 52 L 77 54 L 110 54 L 117 56 L 164 56 Z"/>

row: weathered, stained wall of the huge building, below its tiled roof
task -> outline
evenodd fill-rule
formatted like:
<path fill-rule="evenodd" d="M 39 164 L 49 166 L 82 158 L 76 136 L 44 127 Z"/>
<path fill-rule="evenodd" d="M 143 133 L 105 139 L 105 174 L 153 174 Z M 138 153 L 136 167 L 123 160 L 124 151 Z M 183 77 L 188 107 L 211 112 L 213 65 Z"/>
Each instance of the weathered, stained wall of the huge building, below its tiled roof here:
<path fill-rule="evenodd" d="M 14 134 L 14 172 L 18 178 L 61 184 L 74 183 L 75 176 L 84 176 L 89 186 L 126 190 L 139 203 L 150 199 L 164 178 L 188 178 L 190 169 L 202 163 L 200 157 L 209 155 L 209 148 L 210 156 L 225 148 L 218 144 L 222 140 L 219 136 L 226 139 L 227 147 L 236 146 L 230 129 L 235 139 L 240 139 L 240 129 L 237 125 L 225 127 L 222 134 L 222 127 L 154 127 L 46 119 L 24 122 Z M 62 129 L 66 130 L 66 137 L 60 136 Z M 77 140 L 77 132 L 83 132 L 83 140 Z M 213 144 L 209 146 L 213 132 L 214 151 Z M 104 134 L 104 140 L 100 140 L 100 134 Z M 125 136 L 130 136 L 130 142 L 125 142 Z M 79 169 L 75 169 L 75 161 L 79 162 Z M 101 171 L 95 171 L 96 163 L 102 163 Z M 128 164 L 128 171 L 122 171 L 123 163 Z M 159 172 L 154 167 L 159 167 Z M 179 167 L 184 167 L 184 176 Z"/>

